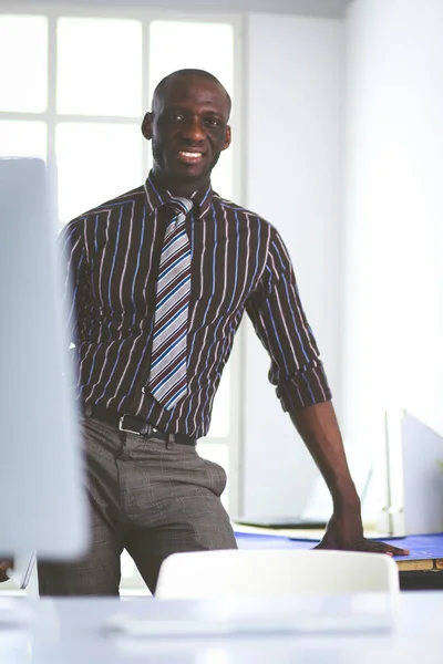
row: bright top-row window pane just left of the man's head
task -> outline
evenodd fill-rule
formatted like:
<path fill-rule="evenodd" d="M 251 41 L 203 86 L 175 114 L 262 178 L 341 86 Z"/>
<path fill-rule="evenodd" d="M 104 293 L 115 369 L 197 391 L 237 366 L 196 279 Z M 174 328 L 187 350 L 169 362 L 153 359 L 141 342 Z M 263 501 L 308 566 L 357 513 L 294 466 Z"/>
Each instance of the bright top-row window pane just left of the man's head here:
<path fill-rule="evenodd" d="M 59 113 L 142 113 L 142 23 L 119 19 L 58 22 Z"/>

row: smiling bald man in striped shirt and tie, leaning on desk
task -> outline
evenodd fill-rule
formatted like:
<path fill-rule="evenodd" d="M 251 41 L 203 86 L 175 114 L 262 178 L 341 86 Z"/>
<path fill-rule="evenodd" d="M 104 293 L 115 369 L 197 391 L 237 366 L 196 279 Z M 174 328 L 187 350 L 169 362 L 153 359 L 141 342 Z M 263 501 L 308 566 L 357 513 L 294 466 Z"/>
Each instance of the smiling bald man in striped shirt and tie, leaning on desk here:
<path fill-rule="evenodd" d="M 72 278 L 92 547 L 40 564 L 42 594 L 117 594 L 125 548 L 155 591 L 175 551 L 235 548 L 224 470 L 195 442 L 246 311 L 271 357 L 270 381 L 333 499 L 322 548 L 404 553 L 363 538 L 330 391 L 285 245 L 223 200 L 210 174 L 230 144 L 230 98 L 209 73 L 164 79 L 142 125 L 154 166 L 144 187 L 62 232 Z M 190 292 L 189 292 L 190 289 Z"/>

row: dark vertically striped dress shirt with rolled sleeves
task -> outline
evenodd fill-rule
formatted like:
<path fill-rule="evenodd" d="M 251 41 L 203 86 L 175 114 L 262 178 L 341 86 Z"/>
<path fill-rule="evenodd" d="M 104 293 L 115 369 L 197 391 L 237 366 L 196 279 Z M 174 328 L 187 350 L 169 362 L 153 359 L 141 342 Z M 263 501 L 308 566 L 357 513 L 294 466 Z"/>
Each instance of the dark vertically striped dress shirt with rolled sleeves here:
<path fill-rule="evenodd" d="M 206 435 L 245 311 L 270 355 L 269 380 L 284 409 L 329 401 L 279 234 L 210 187 L 192 196 L 187 217 L 187 395 L 166 411 L 150 394 L 155 287 L 169 197 L 150 175 L 144 186 L 100 205 L 61 231 L 78 401 L 138 416 L 165 432 Z"/>

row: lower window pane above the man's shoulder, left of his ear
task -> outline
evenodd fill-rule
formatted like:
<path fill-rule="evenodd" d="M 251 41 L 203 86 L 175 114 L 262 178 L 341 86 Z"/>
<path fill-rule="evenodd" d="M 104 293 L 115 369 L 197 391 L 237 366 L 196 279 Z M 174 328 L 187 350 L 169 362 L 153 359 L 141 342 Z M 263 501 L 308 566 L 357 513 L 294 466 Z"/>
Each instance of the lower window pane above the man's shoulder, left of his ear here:
<path fill-rule="evenodd" d="M 143 138 L 136 125 L 60 123 L 55 131 L 62 221 L 138 187 Z"/>

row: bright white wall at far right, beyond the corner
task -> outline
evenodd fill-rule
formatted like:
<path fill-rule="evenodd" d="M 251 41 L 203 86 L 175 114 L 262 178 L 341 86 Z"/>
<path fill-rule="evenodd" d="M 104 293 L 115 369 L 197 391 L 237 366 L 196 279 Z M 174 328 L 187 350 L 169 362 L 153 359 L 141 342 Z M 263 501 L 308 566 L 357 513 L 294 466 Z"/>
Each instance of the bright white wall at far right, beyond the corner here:
<path fill-rule="evenodd" d="M 377 460 L 388 407 L 443 434 L 443 2 L 357 0 L 347 91 L 342 425 Z"/>

